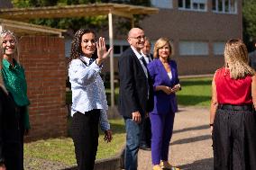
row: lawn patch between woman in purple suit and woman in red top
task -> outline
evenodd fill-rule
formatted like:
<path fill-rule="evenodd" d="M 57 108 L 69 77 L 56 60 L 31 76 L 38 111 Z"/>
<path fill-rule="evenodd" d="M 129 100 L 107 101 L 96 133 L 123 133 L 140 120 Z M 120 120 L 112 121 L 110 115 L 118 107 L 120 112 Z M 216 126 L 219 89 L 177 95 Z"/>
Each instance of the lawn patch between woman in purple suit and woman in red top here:
<path fill-rule="evenodd" d="M 209 106 L 212 77 L 180 79 L 182 90 L 178 92 L 178 104 Z"/>

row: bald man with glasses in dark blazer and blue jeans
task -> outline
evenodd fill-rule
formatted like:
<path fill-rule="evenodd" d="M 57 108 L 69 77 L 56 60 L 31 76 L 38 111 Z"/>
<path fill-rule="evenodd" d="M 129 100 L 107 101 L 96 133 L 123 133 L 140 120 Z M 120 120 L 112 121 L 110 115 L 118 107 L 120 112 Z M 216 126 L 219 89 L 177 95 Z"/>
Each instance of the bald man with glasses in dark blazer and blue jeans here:
<path fill-rule="evenodd" d="M 126 170 L 137 169 L 142 121 L 153 108 L 153 88 L 146 62 L 142 57 L 145 34 L 140 28 L 128 33 L 131 45 L 118 60 L 120 89 L 119 112 L 123 115 L 126 129 L 124 166 Z"/>

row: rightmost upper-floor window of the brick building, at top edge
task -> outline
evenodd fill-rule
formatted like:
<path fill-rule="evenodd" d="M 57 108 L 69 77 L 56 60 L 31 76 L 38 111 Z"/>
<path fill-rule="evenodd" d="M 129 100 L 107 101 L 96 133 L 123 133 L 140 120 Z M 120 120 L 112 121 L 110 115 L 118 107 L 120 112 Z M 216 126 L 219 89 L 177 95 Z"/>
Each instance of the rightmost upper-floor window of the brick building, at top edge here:
<path fill-rule="evenodd" d="M 212 0 L 215 13 L 237 13 L 237 0 Z"/>

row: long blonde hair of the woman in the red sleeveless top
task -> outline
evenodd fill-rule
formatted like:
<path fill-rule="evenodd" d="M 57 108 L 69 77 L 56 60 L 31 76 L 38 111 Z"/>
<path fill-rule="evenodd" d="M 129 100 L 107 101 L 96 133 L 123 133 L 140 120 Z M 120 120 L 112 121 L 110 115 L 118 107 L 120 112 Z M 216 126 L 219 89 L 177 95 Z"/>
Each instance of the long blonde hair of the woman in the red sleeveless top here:
<path fill-rule="evenodd" d="M 248 65 L 248 51 L 240 39 L 228 40 L 224 48 L 225 68 L 230 70 L 233 79 L 253 76 L 255 71 Z"/>

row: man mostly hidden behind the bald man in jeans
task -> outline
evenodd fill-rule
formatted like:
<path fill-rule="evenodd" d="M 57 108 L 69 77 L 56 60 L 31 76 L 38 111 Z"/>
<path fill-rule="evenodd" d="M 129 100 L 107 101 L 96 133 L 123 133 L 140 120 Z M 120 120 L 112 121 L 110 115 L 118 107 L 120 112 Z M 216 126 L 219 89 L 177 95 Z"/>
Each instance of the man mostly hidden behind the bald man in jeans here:
<path fill-rule="evenodd" d="M 151 54 L 151 41 L 147 37 L 145 38 L 144 47 L 142 48 L 142 56 L 147 64 L 153 60 L 153 55 Z M 140 148 L 143 150 L 151 149 L 151 119 L 149 116 L 146 116 L 144 121 L 142 121 Z"/>

